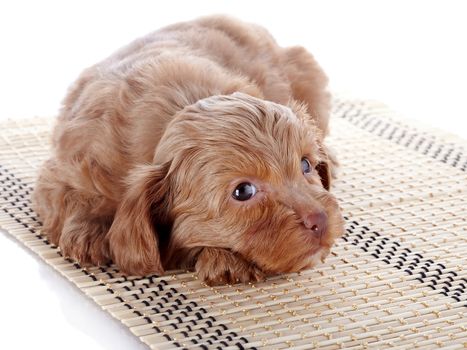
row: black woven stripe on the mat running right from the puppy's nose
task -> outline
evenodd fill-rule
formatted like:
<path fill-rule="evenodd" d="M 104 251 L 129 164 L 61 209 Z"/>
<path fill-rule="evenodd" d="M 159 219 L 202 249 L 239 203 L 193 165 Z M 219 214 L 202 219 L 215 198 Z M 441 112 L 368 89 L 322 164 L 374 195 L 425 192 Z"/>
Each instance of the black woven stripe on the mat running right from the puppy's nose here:
<path fill-rule="evenodd" d="M 414 280 L 428 286 L 467 307 L 467 279 L 443 264 L 425 258 L 422 254 L 405 247 L 404 244 L 382 236 L 369 227 L 345 217 L 347 222 L 344 241 L 357 246 L 374 258 L 403 270 Z"/>

